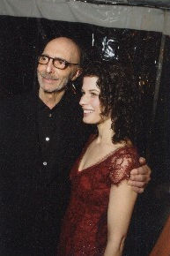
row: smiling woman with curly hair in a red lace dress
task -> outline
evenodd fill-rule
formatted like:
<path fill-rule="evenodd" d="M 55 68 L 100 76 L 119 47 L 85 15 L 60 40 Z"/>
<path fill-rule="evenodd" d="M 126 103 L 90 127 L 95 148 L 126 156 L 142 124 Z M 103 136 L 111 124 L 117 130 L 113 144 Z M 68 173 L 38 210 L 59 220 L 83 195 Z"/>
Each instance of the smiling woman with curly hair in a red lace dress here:
<path fill-rule="evenodd" d="M 137 193 L 127 184 L 138 167 L 132 142 L 139 131 L 140 94 L 118 64 L 88 65 L 80 105 L 86 124 L 97 124 L 70 172 L 70 205 L 57 255 L 120 256 Z M 137 119 L 137 120 L 136 120 Z"/>

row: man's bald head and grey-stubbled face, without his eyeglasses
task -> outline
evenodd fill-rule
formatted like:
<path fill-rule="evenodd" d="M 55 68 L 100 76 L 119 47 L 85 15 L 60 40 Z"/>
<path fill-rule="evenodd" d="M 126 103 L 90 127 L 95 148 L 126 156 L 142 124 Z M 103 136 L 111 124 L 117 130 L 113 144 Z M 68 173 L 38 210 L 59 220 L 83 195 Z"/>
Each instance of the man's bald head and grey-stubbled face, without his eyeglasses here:
<path fill-rule="evenodd" d="M 53 58 L 58 57 L 73 64 L 80 61 L 76 44 L 63 37 L 49 41 L 42 54 Z M 38 64 L 37 68 L 40 90 L 47 93 L 64 90 L 70 80 L 77 79 L 78 74 L 78 65 L 69 65 L 66 69 L 60 70 L 55 68 L 52 59 L 49 59 L 48 64 Z"/>

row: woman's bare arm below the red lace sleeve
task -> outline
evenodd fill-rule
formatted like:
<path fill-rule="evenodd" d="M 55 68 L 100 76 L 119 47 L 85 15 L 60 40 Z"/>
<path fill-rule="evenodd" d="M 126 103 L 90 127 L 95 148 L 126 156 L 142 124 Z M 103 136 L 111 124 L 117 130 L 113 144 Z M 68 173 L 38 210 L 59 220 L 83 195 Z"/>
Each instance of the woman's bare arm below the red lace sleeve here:
<path fill-rule="evenodd" d="M 107 247 L 104 256 L 121 256 L 137 192 L 123 180 L 112 184 L 107 210 Z"/>

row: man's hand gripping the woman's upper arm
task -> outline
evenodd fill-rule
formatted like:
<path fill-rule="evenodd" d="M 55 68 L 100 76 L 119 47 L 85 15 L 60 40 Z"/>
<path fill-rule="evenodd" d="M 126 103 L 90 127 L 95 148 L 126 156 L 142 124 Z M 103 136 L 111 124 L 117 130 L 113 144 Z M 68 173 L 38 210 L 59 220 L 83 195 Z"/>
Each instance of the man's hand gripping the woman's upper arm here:
<path fill-rule="evenodd" d="M 143 157 L 139 158 L 139 162 L 142 166 L 130 171 L 128 184 L 132 186 L 133 191 L 142 193 L 146 184 L 151 180 L 152 170 L 146 165 Z"/>

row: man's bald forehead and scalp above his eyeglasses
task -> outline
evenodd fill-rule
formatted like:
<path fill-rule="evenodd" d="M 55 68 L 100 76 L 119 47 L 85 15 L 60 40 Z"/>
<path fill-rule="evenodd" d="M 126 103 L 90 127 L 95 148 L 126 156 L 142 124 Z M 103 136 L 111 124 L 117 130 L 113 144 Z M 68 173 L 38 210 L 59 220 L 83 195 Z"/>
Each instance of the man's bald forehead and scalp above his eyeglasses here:
<path fill-rule="evenodd" d="M 80 49 L 67 37 L 58 37 L 49 41 L 43 53 L 52 57 L 61 57 L 70 63 L 80 63 Z"/>

